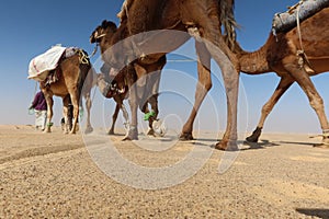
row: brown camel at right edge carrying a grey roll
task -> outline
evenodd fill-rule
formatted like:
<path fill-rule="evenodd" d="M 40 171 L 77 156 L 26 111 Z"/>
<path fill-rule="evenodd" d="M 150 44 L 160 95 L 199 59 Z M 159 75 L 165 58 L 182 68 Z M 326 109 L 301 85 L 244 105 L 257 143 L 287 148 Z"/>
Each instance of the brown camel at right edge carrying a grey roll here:
<path fill-rule="evenodd" d="M 264 104 L 261 118 L 248 141 L 257 142 L 265 118 L 287 89 L 297 82 L 315 110 L 324 132 L 322 142 L 329 145 L 329 124 L 324 101 L 310 80 L 329 70 L 329 8 L 325 8 L 300 23 L 302 45 L 297 26 L 276 36 L 270 34 L 266 43 L 253 53 L 243 51 L 236 45 L 240 70 L 248 74 L 276 72 L 281 78 L 271 99 Z M 302 48 L 304 47 L 304 53 Z"/>

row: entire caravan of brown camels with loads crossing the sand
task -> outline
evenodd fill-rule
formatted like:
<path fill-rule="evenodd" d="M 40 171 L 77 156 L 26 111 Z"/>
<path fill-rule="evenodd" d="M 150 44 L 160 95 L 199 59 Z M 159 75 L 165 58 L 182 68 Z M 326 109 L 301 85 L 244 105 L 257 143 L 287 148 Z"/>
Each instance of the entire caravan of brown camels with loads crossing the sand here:
<path fill-rule="evenodd" d="M 117 14 L 120 24 L 104 20 L 89 38 L 101 50 L 104 64 L 100 73 L 95 73 L 88 54 L 79 48 L 54 47 L 52 49 L 57 50 L 57 54 L 55 58 L 50 56 L 53 60 L 49 57 L 43 59 L 42 56 L 32 59 L 29 78 L 39 81 L 48 105 L 45 131 L 50 131 L 53 95 L 63 97 L 66 123 L 70 120 L 67 106 L 69 103 L 73 105 L 73 122 L 67 128 L 71 134 L 76 132 L 79 105 L 83 96 L 88 112 L 86 132 L 92 131 L 90 92 L 97 85 L 105 99 L 113 99 L 116 103 L 109 135 L 114 134 L 117 114 L 122 111 L 127 128 L 123 140 L 137 140 L 139 107 L 149 124 L 147 134 L 163 136 L 166 130 L 159 129 L 158 92 L 161 71 L 167 62 L 166 55 L 194 37 L 198 57 L 198 82 L 194 105 L 182 127 L 180 140 L 194 139 L 195 117 L 212 88 L 213 58 L 222 70 L 227 96 L 226 130 L 215 145 L 216 149 L 238 150 L 239 72 L 275 72 L 281 78 L 271 99 L 262 107 L 258 126 L 247 137 L 247 141 L 259 140 L 270 112 L 287 89 L 297 82 L 318 116 L 322 129 L 320 147 L 328 148 L 329 123 L 324 101 L 310 77 L 329 70 L 329 0 L 303 0 L 287 12 L 275 14 L 273 31 L 266 43 L 252 53 L 245 51 L 236 42 L 238 24 L 234 16 L 234 0 L 126 0 Z M 42 68 L 45 60 L 49 60 L 52 67 Z M 124 100 L 129 101 L 129 113 L 123 104 Z"/>

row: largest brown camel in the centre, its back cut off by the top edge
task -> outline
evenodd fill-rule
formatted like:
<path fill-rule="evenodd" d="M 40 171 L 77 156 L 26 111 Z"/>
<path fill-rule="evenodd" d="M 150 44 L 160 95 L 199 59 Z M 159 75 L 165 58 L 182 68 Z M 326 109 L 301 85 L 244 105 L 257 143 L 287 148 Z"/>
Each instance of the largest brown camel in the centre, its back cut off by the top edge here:
<path fill-rule="evenodd" d="M 224 42 L 220 32 L 220 24 L 226 23 L 228 18 L 232 18 L 232 0 L 132 1 L 127 7 L 124 7 L 126 21 L 122 21 L 118 28 L 113 26 L 112 36 L 109 36 L 111 41 L 106 41 L 106 46 L 110 48 L 115 43 L 124 41 L 128 36 L 133 37 L 131 41 L 124 41 L 124 43 L 118 46 L 111 47 L 111 49 L 109 49 L 110 51 L 103 56 L 105 62 L 117 69 L 123 68 L 125 62 L 133 61 L 137 78 L 140 79 L 147 73 L 152 72 L 155 62 L 167 53 L 180 47 L 191 35 L 196 37 L 196 51 L 200 57 L 200 83 L 195 94 L 195 107 L 192 110 L 190 115 L 191 119 L 189 118 L 184 125 L 182 134 L 192 136 L 194 117 L 212 84 L 209 64 L 211 58 L 214 58 L 222 69 L 227 91 L 228 112 L 226 132 L 222 141 L 216 145 L 217 149 L 237 149 L 237 94 L 239 73 L 236 67 L 238 62 Z M 162 31 L 149 34 L 149 31 L 155 30 Z M 228 33 L 232 31 L 232 28 L 226 30 Z M 172 35 L 173 33 L 175 34 Z M 124 54 L 122 51 L 124 51 Z M 131 89 L 129 94 L 132 129 L 128 136 L 131 139 L 137 139 L 138 99 L 136 93 L 139 89 L 143 92 L 143 84 L 138 84 L 137 81 L 137 85 Z M 202 89 L 202 91 L 200 91 L 200 89 Z M 190 130 L 188 130 L 186 127 L 189 127 Z"/>

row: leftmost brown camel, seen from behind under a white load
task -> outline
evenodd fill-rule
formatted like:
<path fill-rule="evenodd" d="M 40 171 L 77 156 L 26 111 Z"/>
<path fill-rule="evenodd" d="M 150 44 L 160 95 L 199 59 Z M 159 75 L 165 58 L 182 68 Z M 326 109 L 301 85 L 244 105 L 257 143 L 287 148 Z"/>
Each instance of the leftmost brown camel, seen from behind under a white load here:
<path fill-rule="evenodd" d="M 63 99 L 66 124 L 68 124 L 68 105 L 70 102 L 73 105 L 73 122 L 70 134 L 76 134 L 81 94 L 86 99 L 87 107 L 86 132 L 92 131 L 90 124 L 90 91 L 94 81 L 94 71 L 90 65 L 87 53 L 78 49 L 73 56 L 61 60 L 54 71 L 55 74 L 57 74 L 57 80 L 55 82 L 49 84 L 41 82 L 41 88 L 47 102 L 47 127 L 45 128 L 45 132 L 50 132 L 50 127 L 53 125 L 53 95 L 57 95 Z"/>

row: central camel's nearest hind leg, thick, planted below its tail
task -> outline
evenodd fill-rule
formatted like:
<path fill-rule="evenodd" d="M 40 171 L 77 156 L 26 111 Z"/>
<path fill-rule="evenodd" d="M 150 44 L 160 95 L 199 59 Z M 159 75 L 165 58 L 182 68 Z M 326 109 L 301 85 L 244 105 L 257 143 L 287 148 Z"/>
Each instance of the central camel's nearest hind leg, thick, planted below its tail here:
<path fill-rule="evenodd" d="M 224 79 L 227 96 L 227 125 L 222 141 L 216 143 L 215 148 L 220 150 L 237 150 L 237 103 L 239 89 L 237 57 L 229 50 L 222 36 L 219 18 L 216 18 L 216 14 L 218 14 L 216 7 L 212 3 L 205 4 L 203 1 L 188 0 L 181 10 L 184 20 L 194 21 L 206 48 L 220 67 Z"/>

